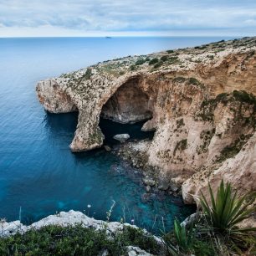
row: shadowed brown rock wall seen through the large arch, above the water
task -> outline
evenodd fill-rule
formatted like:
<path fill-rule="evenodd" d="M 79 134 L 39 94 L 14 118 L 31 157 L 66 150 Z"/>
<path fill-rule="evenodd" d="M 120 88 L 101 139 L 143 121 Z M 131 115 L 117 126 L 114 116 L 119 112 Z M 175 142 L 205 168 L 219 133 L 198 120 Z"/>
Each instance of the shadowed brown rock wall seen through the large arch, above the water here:
<path fill-rule="evenodd" d="M 151 119 L 149 97 L 139 88 L 139 79 L 121 85 L 102 107 L 101 116 L 120 123 Z"/>

